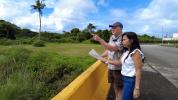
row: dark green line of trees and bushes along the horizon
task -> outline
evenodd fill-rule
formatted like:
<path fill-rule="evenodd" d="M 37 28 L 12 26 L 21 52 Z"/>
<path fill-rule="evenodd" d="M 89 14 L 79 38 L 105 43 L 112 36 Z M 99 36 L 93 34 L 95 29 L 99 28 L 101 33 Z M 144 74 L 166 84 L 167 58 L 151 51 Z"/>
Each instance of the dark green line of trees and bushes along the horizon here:
<path fill-rule="evenodd" d="M 98 43 L 91 38 L 91 32 L 96 30 L 96 26 L 89 23 L 85 29 L 73 28 L 70 32 L 63 31 L 62 33 L 40 32 L 39 36 L 42 41 L 56 43 Z M 109 40 L 111 35 L 110 30 L 96 30 L 105 41 Z M 0 20 L 0 45 L 17 45 L 17 44 L 33 44 L 38 41 L 36 32 L 29 29 L 21 29 L 10 22 Z M 161 43 L 160 38 L 149 36 L 147 34 L 139 35 L 141 43 Z M 164 41 L 164 43 L 178 43 L 178 41 Z"/>

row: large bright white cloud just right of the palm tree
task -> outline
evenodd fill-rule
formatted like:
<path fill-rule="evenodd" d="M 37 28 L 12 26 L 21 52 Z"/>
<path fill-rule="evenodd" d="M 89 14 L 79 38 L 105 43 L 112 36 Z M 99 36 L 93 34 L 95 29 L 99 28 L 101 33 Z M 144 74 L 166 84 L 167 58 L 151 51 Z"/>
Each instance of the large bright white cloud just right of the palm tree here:
<path fill-rule="evenodd" d="M 62 31 L 64 27 L 75 27 L 75 24 L 84 23 L 87 14 L 96 12 L 97 8 L 90 0 L 60 0 L 54 5 L 54 12 L 49 19 L 56 31 Z"/>

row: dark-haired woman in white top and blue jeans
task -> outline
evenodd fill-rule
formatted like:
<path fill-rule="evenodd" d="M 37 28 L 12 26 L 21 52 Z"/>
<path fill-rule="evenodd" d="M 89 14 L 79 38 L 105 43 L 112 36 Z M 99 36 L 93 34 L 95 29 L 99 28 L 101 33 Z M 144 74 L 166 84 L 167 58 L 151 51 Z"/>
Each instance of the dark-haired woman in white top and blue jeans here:
<path fill-rule="evenodd" d="M 125 32 L 122 35 L 122 44 L 124 53 L 120 60 L 103 59 L 102 61 L 114 65 L 122 64 L 121 74 L 124 84 L 122 100 L 133 100 L 133 98 L 138 98 L 140 95 L 141 68 L 144 55 L 134 32 Z"/>

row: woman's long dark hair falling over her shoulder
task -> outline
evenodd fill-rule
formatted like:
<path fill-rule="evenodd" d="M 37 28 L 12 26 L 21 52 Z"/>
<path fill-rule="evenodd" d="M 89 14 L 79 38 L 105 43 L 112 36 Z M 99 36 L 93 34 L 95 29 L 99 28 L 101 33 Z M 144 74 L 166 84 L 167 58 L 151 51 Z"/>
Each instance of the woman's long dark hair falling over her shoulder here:
<path fill-rule="evenodd" d="M 124 36 L 127 36 L 127 38 L 129 40 L 132 40 L 132 44 L 131 44 L 131 47 L 130 47 L 130 51 L 129 51 L 129 54 L 134 51 L 135 49 L 139 49 L 141 50 L 141 47 L 140 47 L 140 43 L 139 43 L 139 40 L 138 40 L 138 37 L 137 37 L 137 34 L 135 32 L 124 32 L 122 34 L 122 41 L 123 41 L 123 37 Z M 125 48 L 124 47 L 124 52 L 127 51 L 128 48 Z M 124 59 L 124 61 L 128 58 L 129 54 L 127 55 L 127 57 Z"/>

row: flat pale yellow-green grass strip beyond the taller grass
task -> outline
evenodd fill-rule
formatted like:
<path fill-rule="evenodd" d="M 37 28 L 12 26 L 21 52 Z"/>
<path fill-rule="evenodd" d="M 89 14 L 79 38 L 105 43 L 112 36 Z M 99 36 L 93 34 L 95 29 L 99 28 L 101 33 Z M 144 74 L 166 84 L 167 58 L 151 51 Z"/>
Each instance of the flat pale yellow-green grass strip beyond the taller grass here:
<path fill-rule="evenodd" d="M 94 48 L 100 54 L 103 52 L 103 48 L 96 44 L 76 44 L 76 43 L 48 43 L 45 47 L 34 47 L 33 45 L 11 45 L 11 46 L 1 46 L 0 51 L 4 51 L 13 47 L 23 47 L 32 51 L 45 51 L 45 52 L 55 52 L 60 55 L 70 56 L 70 57 L 82 57 L 88 56 L 88 52 Z"/>

